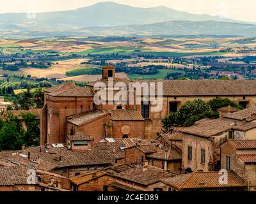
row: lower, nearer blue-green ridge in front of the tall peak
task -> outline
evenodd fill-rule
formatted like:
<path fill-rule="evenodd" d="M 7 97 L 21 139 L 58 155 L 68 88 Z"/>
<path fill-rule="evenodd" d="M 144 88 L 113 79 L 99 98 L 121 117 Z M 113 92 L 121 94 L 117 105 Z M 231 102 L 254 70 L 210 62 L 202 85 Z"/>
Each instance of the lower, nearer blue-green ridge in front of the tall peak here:
<path fill-rule="evenodd" d="M 229 35 L 256 36 L 256 25 L 216 21 L 169 21 L 145 25 L 114 27 L 86 27 L 79 30 L 86 35 L 154 36 L 154 35 Z"/>

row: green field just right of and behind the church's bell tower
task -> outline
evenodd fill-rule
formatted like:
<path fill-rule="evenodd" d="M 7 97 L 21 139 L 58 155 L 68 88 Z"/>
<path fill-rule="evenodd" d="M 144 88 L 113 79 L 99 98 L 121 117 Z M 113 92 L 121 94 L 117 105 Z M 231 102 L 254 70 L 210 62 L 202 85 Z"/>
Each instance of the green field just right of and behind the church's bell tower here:
<path fill-rule="evenodd" d="M 166 77 L 166 75 L 168 73 L 185 73 L 182 70 L 175 70 L 175 69 L 157 69 L 159 71 L 159 73 L 157 73 L 156 75 L 128 75 L 128 77 L 131 80 L 136 80 L 136 79 L 163 79 L 164 77 Z"/>

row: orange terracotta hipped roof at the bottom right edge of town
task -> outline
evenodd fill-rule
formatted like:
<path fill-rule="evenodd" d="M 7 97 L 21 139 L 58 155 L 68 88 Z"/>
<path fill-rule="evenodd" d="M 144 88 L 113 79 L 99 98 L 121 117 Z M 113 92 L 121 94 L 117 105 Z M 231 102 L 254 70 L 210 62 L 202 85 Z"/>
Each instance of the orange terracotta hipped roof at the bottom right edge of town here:
<path fill-rule="evenodd" d="M 186 189 L 205 189 L 205 188 L 220 188 L 220 187 L 246 187 L 246 184 L 241 177 L 236 173 L 228 171 L 228 183 L 220 184 L 220 174 L 218 171 L 210 172 L 193 172 L 185 175 L 161 179 L 164 184 L 175 187 L 179 190 Z"/>

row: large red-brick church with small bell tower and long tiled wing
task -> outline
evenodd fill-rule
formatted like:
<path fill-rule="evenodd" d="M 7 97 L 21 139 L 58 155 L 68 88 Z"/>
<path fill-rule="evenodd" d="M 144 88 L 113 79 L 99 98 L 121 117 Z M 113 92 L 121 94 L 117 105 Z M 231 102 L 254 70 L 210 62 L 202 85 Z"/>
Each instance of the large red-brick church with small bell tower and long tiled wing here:
<path fill-rule="evenodd" d="M 179 110 L 186 101 L 198 98 L 204 101 L 228 98 L 244 108 L 256 105 L 256 80 L 136 81 L 137 85 L 162 83 L 162 108 L 153 112 L 154 105 L 148 100 L 148 93 L 138 91 L 136 85 L 130 87 L 131 82 L 115 77 L 115 67 L 105 66 L 102 79 L 86 87 L 67 82 L 46 89 L 41 114 L 41 144 L 65 143 L 69 135 L 87 135 L 95 142 L 104 138 L 154 139 L 161 133 L 163 117 Z M 102 90 L 106 92 L 106 98 L 99 98 L 104 103 L 95 103 L 95 96 Z M 113 103 L 109 93 L 118 91 L 126 101 L 120 97 Z M 128 103 L 137 98 L 140 98 L 140 104 Z"/>

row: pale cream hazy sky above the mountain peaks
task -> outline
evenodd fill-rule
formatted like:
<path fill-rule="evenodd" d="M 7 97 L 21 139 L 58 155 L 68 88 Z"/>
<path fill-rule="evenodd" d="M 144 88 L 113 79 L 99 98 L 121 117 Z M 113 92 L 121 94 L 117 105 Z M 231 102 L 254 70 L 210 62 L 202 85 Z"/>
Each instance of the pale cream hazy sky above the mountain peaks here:
<path fill-rule="evenodd" d="M 73 10 L 105 0 L 0 0 L 0 13 Z M 190 13 L 256 22 L 255 0 L 113 0 L 136 7 L 167 6 Z M 1 19 L 0 19 L 1 20 Z"/>

